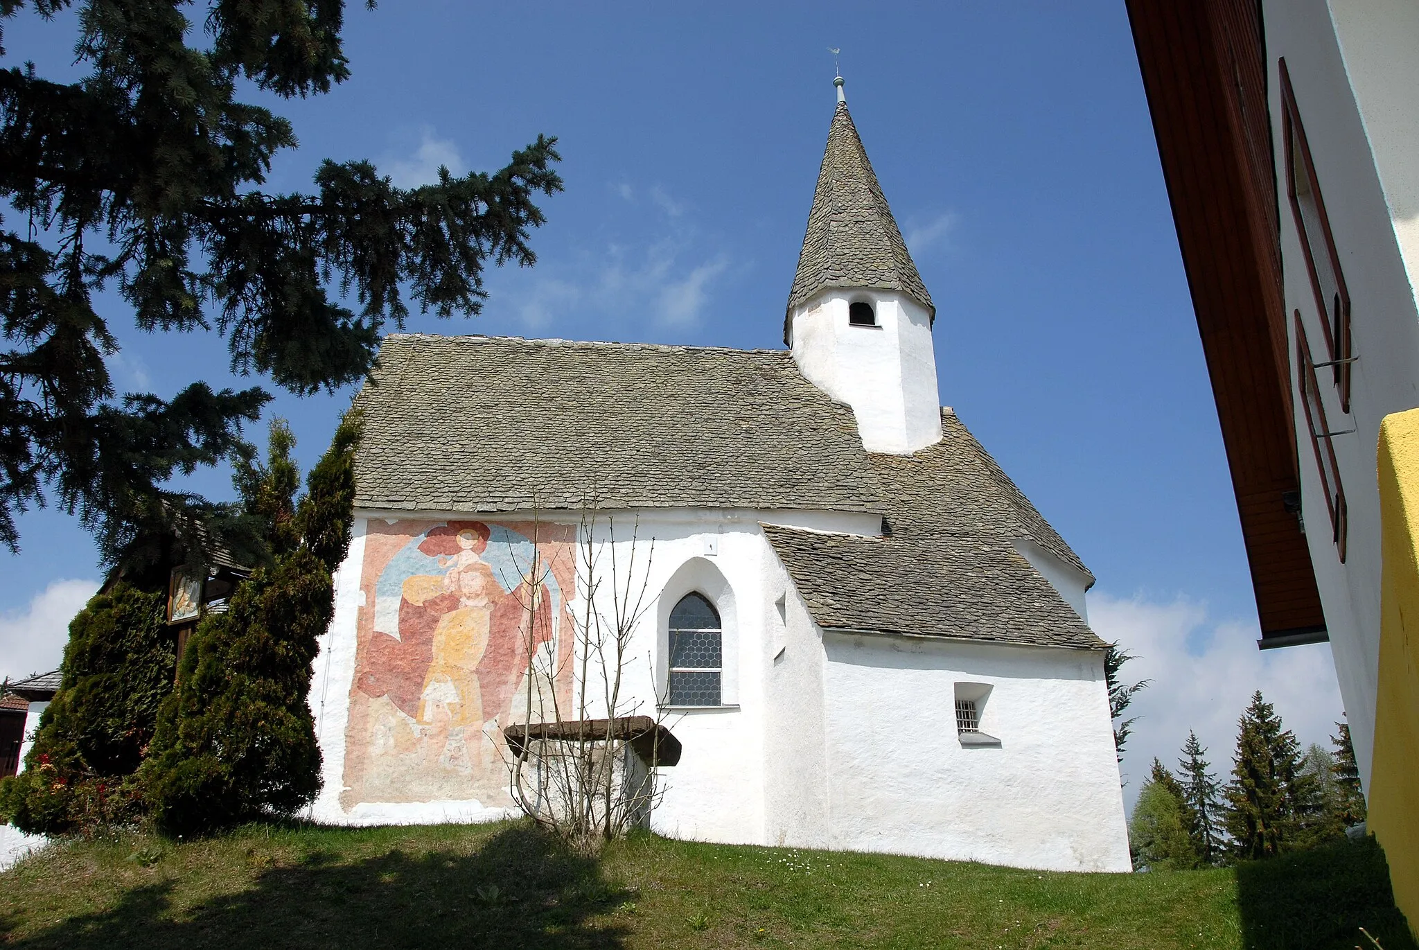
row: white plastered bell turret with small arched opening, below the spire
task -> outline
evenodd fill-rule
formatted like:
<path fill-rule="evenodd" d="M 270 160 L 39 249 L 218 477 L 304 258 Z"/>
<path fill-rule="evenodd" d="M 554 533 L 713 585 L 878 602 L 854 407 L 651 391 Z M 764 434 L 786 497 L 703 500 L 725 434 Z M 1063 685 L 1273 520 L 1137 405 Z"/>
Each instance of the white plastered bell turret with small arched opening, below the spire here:
<path fill-rule="evenodd" d="M 854 301 L 873 305 L 876 327 L 854 327 Z M 911 454 L 941 442 L 931 317 L 893 291 L 829 290 L 795 308 L 793 359 L 833 399 L 853 408 L 868 452 Z"/>

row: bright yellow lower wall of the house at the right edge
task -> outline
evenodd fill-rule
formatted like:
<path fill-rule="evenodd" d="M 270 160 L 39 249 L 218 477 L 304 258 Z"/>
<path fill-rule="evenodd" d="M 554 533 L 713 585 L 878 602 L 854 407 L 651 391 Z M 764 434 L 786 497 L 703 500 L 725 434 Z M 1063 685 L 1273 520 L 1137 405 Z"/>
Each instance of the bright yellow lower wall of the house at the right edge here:
<path fill-rule="evenodd" d="M 1379 692 L 1369 831 L 1385 848 L 1395 903 L 1419 927 L 1419 409 L 1379 427 Z"/>

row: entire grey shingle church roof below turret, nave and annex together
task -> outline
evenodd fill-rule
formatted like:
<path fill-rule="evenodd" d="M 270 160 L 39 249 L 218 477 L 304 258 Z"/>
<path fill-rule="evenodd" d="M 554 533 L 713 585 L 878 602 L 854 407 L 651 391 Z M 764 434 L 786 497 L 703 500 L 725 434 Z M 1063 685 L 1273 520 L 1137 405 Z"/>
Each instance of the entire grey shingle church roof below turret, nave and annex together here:
<path fill-rule="evenodd" d="M 955 413 L 867 453 L 782 351 L 393 335 L 355 405 L 363 508 L 877 513 L 884 538 L 765 527 L 820 626 L 1103 646 L 1015 542 L 1093 575 Z"/>

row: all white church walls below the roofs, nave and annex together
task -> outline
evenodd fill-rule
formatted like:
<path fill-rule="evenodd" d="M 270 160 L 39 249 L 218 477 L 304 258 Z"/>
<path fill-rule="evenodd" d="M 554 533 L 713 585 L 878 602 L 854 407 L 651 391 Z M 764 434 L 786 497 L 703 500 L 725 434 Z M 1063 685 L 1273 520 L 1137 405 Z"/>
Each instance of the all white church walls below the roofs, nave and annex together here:
<path fill-rule="evenodd" d="M 502 818 L 505 809 L 473 799 L 341 807 L 359 578 L 369 524 L 385 514 L 360 513 L 335 578 L 335 618 L 311 692 L 325 781 L 311 817 L 332 824 Z M 623 694 L 631 700 L 623 714 L 654 714 L 656 697 L 664 694 L 668 613 L 684 594 L 708 596 L 724 623 L 725 704 L 663 710 L 684 751 L 677 765 L 658 770 L 657 832 L 1128 869 L 1101 655 L 834 633 L 824 643 L 752 515 L 616 513 L 593 534 L 607 565 L 614 527 L 622 604 L 640 608 L 626 650 Z M 853 514 L 772 517 L 839 531 L 868 524 Z M 614 609 L 609 591 L 603 581 L 603 615 Z M 573 611 L 585 609 L 583 596 L 578 594 Z M 595 670 L 589 682 L 586 714 L 596 717 L 604 703 Z M 954 728 L 958 682 L 992 687 L 983 726 L 1002 738 L 1000 748 L 961 747 Z"/>

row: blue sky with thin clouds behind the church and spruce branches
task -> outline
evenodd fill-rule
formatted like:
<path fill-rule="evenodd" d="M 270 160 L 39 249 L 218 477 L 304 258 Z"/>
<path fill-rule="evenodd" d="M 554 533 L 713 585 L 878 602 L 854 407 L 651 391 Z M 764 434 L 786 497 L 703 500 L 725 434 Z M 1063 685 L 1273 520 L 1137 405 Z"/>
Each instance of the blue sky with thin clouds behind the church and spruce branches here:
<path fill-rule="evenodd" d="M 431 332 L 782 345 L 833 112 L 827 47 L 840 47 L 853 118 L 938 307 L 942 403 L 1098 577 L 1095 626 L 1148 653 L 1139 675 L 1158 682 L 1139 700 L 1134 771 L 1151 750 L 1176 748 L 1189 723 L 1212 721 L 1203 741 L 1230 746 L 1256 686 L 1303 741 L 1324 740 L 1340 716 L 1328 649 L 1253 646 L 1236 507 L 1122 3 L 386 0 L 346 16 L 353 75 L 277 104 L 301 148 L 270 189 L 309 187 L 324 158 L 370 158 L 416 183 L 438 163 L 492 169 L 538 132 L 559 136 L 566 192 L 545 202 L 538 266 L 491 273 L 482 317 L 409 322 Z M 7 60 L 74 75 L 71 24 L 20 16 L 6 26 Z M 111 318 L 121 385 L 241 385 L 217 339 L 139 334 L 116 304 Z M 281 395 L 268 415 L 291 420 L 308 463 L 349 398 Z M 194 483 L 230 491 L 219 473 Z M 99 569 L 72 518 L 48 510 L 20 527 L 21 554 L 0 554 L 0 622 L 11 642 L 43 646 L 30 618 L 44 592 Z M 51 612 L 64 612 L 58 601 Z M 28 646 L 24 656 L 40 662 Z M 18 663 L 0 657 L 0 672 Z M 1199 682 L 1212 684 L 1183 700 Z"/>

